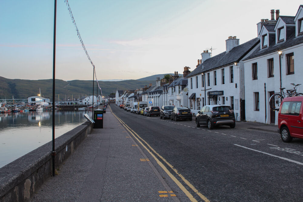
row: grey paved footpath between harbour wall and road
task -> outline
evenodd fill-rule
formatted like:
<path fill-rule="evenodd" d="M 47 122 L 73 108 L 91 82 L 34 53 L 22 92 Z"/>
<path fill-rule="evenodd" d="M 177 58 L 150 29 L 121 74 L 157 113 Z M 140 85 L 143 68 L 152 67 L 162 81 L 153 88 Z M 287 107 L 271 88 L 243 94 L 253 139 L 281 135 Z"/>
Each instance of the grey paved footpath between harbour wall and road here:
<path fill-rule="evenodd" d="M 108 108 L 104 128 L 88 134 L 31 201 L 190 201 L 137 144 Z"/>

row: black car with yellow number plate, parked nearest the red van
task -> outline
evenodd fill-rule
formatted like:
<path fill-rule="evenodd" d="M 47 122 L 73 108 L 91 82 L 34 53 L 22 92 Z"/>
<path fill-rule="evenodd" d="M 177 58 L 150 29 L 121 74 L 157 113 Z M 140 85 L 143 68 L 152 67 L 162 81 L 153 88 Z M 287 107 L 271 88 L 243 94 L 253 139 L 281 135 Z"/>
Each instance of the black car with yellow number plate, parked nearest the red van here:
<path fill-rule="evenodd" d="M 225 104 L 205 105 L 196 116 L 197 127 L 207 125 L 208 129 L 214 126 L 228 125 L 231 128 L 236 126 L 234 110 Z"/>

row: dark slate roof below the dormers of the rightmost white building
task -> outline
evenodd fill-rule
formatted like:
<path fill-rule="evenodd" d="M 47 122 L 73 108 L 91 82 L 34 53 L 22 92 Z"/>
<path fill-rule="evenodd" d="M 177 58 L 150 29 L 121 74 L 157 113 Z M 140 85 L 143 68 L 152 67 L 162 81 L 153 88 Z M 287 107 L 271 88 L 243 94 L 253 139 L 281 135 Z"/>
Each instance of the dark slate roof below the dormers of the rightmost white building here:
<path fill-rule="evenodd" d="M 298 45 L 303 43 L 303 36 L 299 35 L 297 37 L 295 37 L 295 33 L 293 33 L 286 41 L 284 42 L 279 42 L 277 44 L 275 44 L 275 41 L 272 42 L 267 48 L 256 48 L 256 50 L 249 55 L 248 57 L 244 58 L 243 60 L 248 60 L 251 58 L 255 58 L 261 55 L 266 55 L 268 53 L 271 52 L 278 52 L 278 50 L 282 50 L 284 48 L 288 48 L 294 45 Z"/>

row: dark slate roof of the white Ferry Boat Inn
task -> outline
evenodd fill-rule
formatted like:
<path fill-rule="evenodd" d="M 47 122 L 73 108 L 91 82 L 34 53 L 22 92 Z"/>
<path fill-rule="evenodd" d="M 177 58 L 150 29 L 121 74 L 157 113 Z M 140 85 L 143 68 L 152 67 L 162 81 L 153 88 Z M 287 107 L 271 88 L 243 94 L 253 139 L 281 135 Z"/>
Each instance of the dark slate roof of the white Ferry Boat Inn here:
<path fill-rule="evenodd" d="M 214 57 L 208 58 L 197 68 L 195 68 L 189 75 L 186 77 L 191 77 L 202 72 L 209 71 L 211 69 L 223 67 L 234 62 L 240 61 L 249 51 L 252 50 L 260 42 L 259 38 L 251 39 L 241 45 L 238 45 L 231 49 L 228 53 L 222 52 Z M 202 69 L 203 67 L 203 69 Z"/>

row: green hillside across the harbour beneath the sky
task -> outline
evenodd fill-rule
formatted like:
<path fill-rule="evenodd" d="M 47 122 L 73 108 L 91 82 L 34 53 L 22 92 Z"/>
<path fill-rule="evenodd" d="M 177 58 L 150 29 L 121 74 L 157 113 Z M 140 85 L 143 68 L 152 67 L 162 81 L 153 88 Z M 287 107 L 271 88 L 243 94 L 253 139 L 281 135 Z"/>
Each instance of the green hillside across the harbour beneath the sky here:
<path fill-rule="evenodd" d="M 155 84 L 155 81 L 138 81 L 138 80 L 125 80 L 125 81 L 99 81 L 104 96 L 110 93 L 115 93 L 118 90 L 135 90 L 142 88 L 149 83 Z M 63 81 L 56 79 L 55 96 L 60 99 L 65 99 L 72 96 L 74 98 L 91 95 L 93 91 L 93 82 L 84 80 Z M 31 95 L 39 94 L 43 97 L 52 98 L 52 79 L 45 80 L 25 80 L 25 79 L 8 79 L 0 77 L 0 99 L 15 99 L 27 98 Z M 94 94 L 97 91 L 97 82 L 94 84 Z M 98 94 L 100 91 L 98 90 Z"/>

